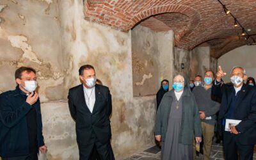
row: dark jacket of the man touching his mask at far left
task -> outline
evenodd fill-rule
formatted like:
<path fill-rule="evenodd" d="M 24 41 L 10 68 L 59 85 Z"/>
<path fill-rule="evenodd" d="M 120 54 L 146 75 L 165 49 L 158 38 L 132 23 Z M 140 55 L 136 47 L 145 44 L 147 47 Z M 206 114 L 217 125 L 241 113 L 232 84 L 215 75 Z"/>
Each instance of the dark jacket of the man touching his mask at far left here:
<path fill-rule="evenodd" d="M 0 95 L 0 156 L 17 157 L 29 154 L 29 137 L 26 114 L 36 109 L 38 148 L 44 145 L 40 100 L 33 106 L 21 95 L 19 86 Z"/>

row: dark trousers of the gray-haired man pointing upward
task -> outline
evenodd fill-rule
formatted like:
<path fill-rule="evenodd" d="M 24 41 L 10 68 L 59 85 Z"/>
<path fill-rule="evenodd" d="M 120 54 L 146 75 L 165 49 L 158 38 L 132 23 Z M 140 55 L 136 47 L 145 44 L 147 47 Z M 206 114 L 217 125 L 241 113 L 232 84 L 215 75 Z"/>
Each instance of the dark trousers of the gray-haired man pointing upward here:
<path fill-rule="evenodd" d="M 254 145 L 242 145 L 236 134 L 223 131 L 223 147 L 226 160 L 252 160 Z"/>

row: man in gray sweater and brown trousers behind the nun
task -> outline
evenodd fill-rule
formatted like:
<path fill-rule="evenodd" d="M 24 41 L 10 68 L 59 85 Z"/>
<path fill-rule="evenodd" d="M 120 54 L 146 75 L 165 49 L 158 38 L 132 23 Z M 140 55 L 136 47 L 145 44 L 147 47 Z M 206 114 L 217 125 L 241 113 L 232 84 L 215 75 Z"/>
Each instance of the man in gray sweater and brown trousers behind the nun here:
<path fill-rule="evenodd" d="M 212 138 L 214 136 L 214 125 L 216 124 L 216 113 L 220 109 L 220 103 L 214 101 L 211 96 L 213 81 L 214 73 L 208 70 L 204 74 L 204 85 L 197 86 L 193 90 L 201 119 L 204 140 L 204 160 L 208 160 L 210 156 Z"/>

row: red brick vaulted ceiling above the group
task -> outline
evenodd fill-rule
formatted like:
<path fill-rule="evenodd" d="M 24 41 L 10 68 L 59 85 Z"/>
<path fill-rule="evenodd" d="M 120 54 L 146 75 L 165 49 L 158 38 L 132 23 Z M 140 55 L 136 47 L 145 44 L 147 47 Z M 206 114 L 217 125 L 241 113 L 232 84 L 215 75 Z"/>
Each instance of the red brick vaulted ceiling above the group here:
<path fill-rule="evenodd" d="M 237 36 L 234 19 L 223 12 L 217 0 L 84 0 L 85 19 L 122 31 L 136 25 L 154 31 L 173 30 L 175 45 L 193 49 L 211 46 L 211 56 L 219 58 L 236 47 L 256 40 L 256 0 L 221 0 L 251 36 Z"/>

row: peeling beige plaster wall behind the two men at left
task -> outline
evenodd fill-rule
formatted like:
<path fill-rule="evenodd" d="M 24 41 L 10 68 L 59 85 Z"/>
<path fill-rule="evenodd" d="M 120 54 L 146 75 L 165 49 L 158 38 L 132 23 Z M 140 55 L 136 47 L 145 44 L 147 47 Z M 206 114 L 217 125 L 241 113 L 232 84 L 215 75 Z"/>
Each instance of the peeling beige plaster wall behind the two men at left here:
<path fill-rule="evenodd" d="M 49 150 L 40 159 L 78 159 L 67 92 L 81 84 L 78 69 L 86 63 L 95 67 L 113 97 L 111 143 L 116 159 L 154 144 L 156 97 L 132 95 L 131 31 L 84 20 L 82 0 L 1 1 L 0 17 L 0 91 L 15 87 L 17 67 L 30 65 L 38 71 Z"/>

